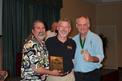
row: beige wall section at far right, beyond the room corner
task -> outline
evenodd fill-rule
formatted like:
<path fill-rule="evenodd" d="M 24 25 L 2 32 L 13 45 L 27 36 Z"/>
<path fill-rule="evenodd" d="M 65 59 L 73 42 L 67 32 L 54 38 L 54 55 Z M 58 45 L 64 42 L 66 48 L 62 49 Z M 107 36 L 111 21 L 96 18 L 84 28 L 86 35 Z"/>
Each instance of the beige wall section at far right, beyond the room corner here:
<path fill-rule="evenodd" d="M 96 6 L 96 26 L 111 26 L 106 36 L 108 39 L 107 59 L 105 66 L 110 68 L 122 67 L 122 2 L 106 3 Z M 112 26 L 115 26 L 115 32 L 112 32 Z M 109 35 L 110 34 L 110 35 Z M 114 34 L 116 35 L 114 37 Z M 115 43 L 115 45 L 113 45 Z"/>

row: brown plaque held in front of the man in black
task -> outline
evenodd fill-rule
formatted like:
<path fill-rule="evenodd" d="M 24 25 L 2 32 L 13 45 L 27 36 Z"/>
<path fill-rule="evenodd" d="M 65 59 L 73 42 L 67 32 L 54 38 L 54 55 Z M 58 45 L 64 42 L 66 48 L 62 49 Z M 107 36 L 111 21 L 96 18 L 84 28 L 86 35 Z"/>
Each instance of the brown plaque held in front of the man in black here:
<path fill-rule="evenodd" d="M 50 70 L 63 72 L 63 57 L 50 56 Z"/>

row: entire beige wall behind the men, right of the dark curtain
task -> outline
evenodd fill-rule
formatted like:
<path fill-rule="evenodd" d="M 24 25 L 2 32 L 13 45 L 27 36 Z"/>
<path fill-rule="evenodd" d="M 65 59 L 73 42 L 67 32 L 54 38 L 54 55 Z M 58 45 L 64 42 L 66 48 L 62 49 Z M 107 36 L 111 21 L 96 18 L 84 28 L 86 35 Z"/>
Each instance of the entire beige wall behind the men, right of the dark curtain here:
<path fill-rule="evenodd" d="M 75 19 L 80 15 L 87 15 L 91 18 L 94 31 L 97 27 L 103 26 L 104 28 L 102 28 L 102 30 L 110 40 L 108 44 L 109 48 L 105 54 L 104 68 L 113 69 L 122 67 L 122 3 L 94 5 L 81 1 L 82 0 L 63 0 L 61 18 L 69 18 L 73 21 L 72 35 L 77 33 L 74 23 Z"/>

